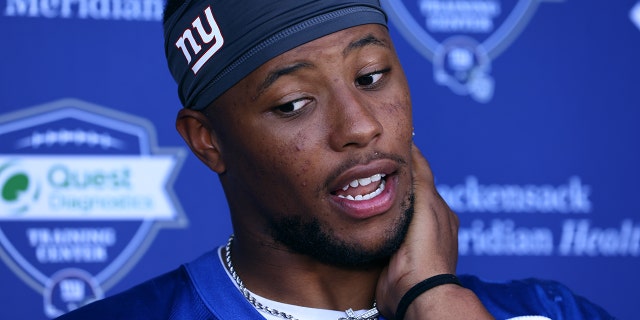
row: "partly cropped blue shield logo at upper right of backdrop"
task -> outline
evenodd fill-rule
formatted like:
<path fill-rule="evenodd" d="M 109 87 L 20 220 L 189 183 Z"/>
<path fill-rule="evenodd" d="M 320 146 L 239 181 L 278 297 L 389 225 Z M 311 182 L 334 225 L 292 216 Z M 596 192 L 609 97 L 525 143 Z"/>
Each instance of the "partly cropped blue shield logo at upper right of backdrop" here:
<path fill-rule="evenodd" d="M 382 0 L 407 41 L 433 62 L 436 83 L 477 102 L 493 98 L 491 63 L 542 2 L 563 0 Z"/>

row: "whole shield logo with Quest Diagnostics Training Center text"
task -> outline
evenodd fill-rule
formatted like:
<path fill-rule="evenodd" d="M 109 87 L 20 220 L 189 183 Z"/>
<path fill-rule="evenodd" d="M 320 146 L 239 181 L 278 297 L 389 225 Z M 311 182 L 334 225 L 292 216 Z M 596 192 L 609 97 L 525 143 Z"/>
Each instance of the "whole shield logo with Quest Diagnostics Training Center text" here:
<path fill-rule="evenodd" d="M 149 121 L 84 101 L 0 116 L 0 258 L 47 317 L 103 298 L 160 229 L 186 226 L 184 157 Z"/>

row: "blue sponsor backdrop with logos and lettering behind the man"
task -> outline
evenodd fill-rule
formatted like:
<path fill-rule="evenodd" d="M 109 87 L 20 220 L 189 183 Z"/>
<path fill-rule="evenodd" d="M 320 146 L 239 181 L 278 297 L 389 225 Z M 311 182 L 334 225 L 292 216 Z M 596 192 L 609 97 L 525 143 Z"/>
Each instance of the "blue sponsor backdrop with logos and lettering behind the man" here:
<path fill-rule="evenodd" d="M 384 1 L 459 272 L 640 311 L 640 1 Z M 48 319 L 224 243 L 162 0 L 0 0 L 1 319 Z"/>

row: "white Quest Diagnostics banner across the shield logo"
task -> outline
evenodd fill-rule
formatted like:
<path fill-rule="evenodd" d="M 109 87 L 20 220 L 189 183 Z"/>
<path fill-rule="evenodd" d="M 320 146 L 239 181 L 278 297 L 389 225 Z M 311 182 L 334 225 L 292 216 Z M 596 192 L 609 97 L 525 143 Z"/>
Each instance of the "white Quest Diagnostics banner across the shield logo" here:
<path fill-rule="evenodd" d="M 0 211 L 0 218 L 137 220 L 173 216 L 163 190 L 166 176 L 157 174 L 171 171 L 174 163 L 169 157 L 48 155 L 18 159 L 20 167 L 9 165 L 3 179 L 2 206 L 6 210 Z"/>

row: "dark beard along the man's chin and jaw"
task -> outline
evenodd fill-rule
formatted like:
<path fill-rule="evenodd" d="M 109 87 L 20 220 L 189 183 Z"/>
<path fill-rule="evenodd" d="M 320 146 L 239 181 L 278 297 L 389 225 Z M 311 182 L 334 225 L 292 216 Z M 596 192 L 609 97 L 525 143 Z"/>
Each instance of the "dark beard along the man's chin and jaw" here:
<path fill-rule="evenodd" d="M 413 218 L 413 204 L 412 190 L 402 202 L 402 214 L 380 234 L 385 241 L 378 248 L 367 249 L 359 243 L 347 243 L 317 218 L 305 220 L 303 215 L 271 221 L 272 237 L 292 251 L 328 265 L 351 269 L 379 267 L 387 264 L 404 241 Z"/>

